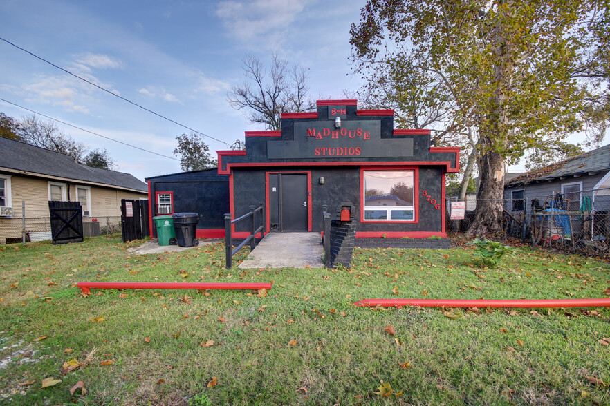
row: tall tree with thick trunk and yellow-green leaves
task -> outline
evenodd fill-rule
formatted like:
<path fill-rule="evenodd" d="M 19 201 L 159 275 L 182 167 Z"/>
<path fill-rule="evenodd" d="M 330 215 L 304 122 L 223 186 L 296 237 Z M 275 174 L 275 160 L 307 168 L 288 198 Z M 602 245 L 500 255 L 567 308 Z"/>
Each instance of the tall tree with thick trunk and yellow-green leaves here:
<path fill-rule="evenodd" d="M 605 133 L 605 2 L 369 0 L 361 15 L 351 28 L 357 71 L 423 78 L 406 82 L 410 93 L 420 81 L 440 86 L 447 131 L 470 133 L 481 199 L 472 235 L 501 228 L 506 164 L 571 133 L 594 142 Z"/>

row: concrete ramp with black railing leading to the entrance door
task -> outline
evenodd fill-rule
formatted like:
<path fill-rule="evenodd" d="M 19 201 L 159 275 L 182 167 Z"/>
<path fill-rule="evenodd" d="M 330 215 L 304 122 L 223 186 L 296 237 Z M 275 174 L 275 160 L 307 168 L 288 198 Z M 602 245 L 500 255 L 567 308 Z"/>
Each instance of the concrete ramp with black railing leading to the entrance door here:
<path fill-rule="evenodd" d="M 239 268 L 321 268 L 320 233 L 268 233 Z"/>

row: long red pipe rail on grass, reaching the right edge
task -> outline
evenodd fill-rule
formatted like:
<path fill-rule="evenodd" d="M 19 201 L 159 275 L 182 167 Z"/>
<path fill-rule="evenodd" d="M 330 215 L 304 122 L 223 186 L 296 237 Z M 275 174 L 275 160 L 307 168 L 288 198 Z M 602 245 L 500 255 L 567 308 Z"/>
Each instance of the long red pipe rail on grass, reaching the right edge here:
<path fill-rule="evenodd" d="M 547 300 L 485 300 L 485 299 L 363 299 L 354 306 L 369 307 L 610 307 L 610 298 L 547 299 Z"/>

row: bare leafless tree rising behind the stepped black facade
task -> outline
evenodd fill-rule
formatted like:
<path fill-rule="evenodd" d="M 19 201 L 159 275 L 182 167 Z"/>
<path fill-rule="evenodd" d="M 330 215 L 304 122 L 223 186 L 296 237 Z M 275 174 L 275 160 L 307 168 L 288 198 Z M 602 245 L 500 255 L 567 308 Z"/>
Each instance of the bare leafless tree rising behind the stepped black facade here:
<path fill-rule="evenodd" d="M 243 59 L 246 81 L 232 86 L 227 99 L 235 110 L 246 108 L 251 123 L 264 124 L 266 130 L 281 130 L 281 113 L 315 110 L 308 96 L 308 69 L 290 66 L 286 59 L 271 56 L 269 71 L 252 55 Z"/>

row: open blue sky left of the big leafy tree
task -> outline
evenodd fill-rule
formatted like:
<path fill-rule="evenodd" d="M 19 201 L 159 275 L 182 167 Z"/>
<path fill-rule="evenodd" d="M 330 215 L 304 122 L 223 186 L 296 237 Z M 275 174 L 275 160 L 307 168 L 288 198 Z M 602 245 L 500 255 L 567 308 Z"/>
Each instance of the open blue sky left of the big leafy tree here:
<path fill-rule="evenodd" d="M 364 0 L 3 0 L 0 37 L 176 122 L 232 144 L 262 130 L 226 94 L 243 83 L 241 60 L 270 55 L 310 69 L 314 99 L 360 88 L 349 28 Z M 189 131 L 113 97 L 0 41 L 0 97 L 122 142 L 172 155 Z M 0 101 L 11 117 L 30 115 Z M 89 148 L 106 148 L 140 180 L 179 162 L 59 124 Z M 227 149 L 205 138 L 210 151 Z M 214 153 L 215 155 L 215 153 Z"/>

